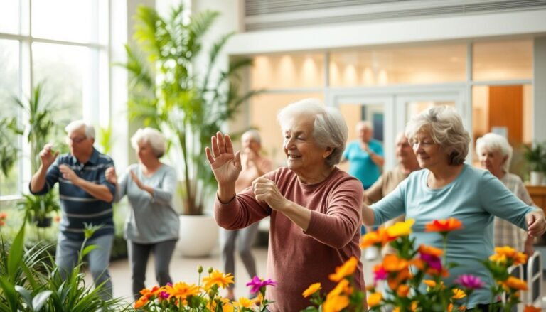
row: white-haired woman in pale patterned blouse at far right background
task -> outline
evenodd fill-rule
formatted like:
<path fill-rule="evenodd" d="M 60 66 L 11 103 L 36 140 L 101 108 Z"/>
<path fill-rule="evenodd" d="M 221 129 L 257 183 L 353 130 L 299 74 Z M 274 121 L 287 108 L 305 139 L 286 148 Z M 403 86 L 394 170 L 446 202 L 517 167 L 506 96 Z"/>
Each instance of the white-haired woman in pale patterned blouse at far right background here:
<path fill-rule="evenodd" d="M 510 168 L 510 159 L 512 158 L 512 146 L 504 136 L 488 133 L 476 141 L 476 152 L 480 160 L 481 167 L 487 169 L 493 176 L 496 176 L 517 198 L 527 205 L 532 203 L 531 196 L 521 178 L 508 172 Z M 495 246 L 510 246 L 518 251 L 525 252 L 531 256 L 535 249 L 533 247 L 533 238 L 527 235 L 525 230 L 513 225 L 512 223 L 495 217 L 493 221 L 495 235 Z"/>

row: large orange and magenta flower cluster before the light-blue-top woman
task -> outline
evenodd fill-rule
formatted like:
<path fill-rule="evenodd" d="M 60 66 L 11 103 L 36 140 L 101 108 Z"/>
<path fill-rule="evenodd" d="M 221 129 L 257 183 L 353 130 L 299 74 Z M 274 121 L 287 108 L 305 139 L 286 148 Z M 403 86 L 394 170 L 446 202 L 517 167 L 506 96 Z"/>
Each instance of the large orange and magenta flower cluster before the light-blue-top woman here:
<path fill-rule="evenodd" d="M 382 308 L 392 311 L 465 311 L 469 297 L 476 289 L 483 288 L 486 283 L 472 274 L 463 274 L 452 285 L 444 284 L 444 278 L 449 276 L 449 269 L 455 263 L 446 263 L 447 236 L 450 232 L 463 226 L 459 220 L 434 220 L 425 226 L 427 232 L 439 232 L 444 240 L 444 250 L 426 245 L 415 246 L 415 240 L 410 239 L 414 220 L 397 222 L 387 228 L 379 228 L 375 232 L 364 235 L 360 247 L 383 247 L 390 244 L 396 254 L 387 254 L 382 262 L 373 269 L 374 283 L 367 287 L 367 298 L 370 311 L 382 311 Z M 527 290 L 525 281 L 510 276 L 508 268 L 523 264 L 527 256 L 516 252 L 511 247 L 496 248 L 495 254 L 483 261 L 483 265 L 491 272 L 496 285 L 491 287 L 491 298 L 504 295 L 504 303 L 491 305 L 493 311 L 511 311 L 520 302 L 519 292 Z M 364 311 L 363 291 L 355 289 L 353 274 L 358 260 L 353 258 L 331 274 L 331 281 L 338 285 L 326 294 L 321 294 L 320 284 L 311 284 L 303 296 L 309 297 L 313 306 L 306 311 Z M 384 285 L 383 292 L 378 290 L 378 282 Z M 389 310 L 390 311 L 390 310 Z M 538 311 L 533 306 L 526 306 L 525 312 Z"/>

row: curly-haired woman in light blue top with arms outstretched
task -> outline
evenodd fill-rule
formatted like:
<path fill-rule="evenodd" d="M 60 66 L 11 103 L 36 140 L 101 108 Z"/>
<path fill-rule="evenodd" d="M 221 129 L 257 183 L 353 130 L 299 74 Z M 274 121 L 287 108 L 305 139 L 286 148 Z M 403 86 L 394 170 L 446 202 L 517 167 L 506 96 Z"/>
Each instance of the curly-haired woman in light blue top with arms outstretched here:
<path fill-rule="evenodd" d="M 406 136 L 424 170 L 414 171 L 378 203 L 364 205 L 363 221 L 380 225 L 405 213 L 415 220 L 412 237 L 417 245 L 443 248 L 441 235 L 424 232 L 424 225 L 448 217 L 461 220 L 464 228 L 449 233 L 446 251 L 447 262 L 460 267 L 449 269 L 446 283 L 461 274 L 478 276 L 487 286 L 473 292 L 468 308 L 488 311 L 493 279 L 480 261 L 493 254 L 493 217 L 538 236 L 546 230 L 544 213 L 516 198 L 489 171 L 464 163 L 470 136 L 454 109 L 427 109 L 410 120 Z"/>

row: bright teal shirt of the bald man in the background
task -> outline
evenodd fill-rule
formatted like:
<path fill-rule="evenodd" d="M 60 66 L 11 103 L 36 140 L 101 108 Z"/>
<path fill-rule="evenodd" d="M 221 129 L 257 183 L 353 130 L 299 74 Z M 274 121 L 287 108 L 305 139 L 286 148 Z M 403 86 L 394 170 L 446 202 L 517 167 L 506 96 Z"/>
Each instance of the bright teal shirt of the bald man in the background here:
<path fill-rule="evenodd" d="M 383 147 L 378 140 L 372 139 L 368 146 L 373 153 L 384 156 Z M 381 168 L 373 162 L 370 154 L 360 147 L 359 140 L 347 144 L 345 151 L 343 151 L 343 157 L 349 161 L 348 173 L 358 178 L 364 189 L 370 188 L 381 175 Z"/>

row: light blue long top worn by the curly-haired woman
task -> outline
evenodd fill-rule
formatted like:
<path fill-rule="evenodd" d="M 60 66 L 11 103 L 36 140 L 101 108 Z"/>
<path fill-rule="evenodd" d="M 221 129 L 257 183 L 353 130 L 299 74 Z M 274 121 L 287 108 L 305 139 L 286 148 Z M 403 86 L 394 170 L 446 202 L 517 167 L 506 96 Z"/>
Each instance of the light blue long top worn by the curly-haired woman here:
<path fill-rule="evenodd" d="M 380 225 L 398 215 L 414 219 L 412 235 L 415 244 L 444 249 L 438 232 L 424 232 L 432 220 L 454 217 L 463 223 L 461 230 L 450 232 L 447 242 L 447 262 L 460 267 L 450 269 L 446 284 L 460 274 L 473 274 L 486 286 L 473 292 L 468 308 L 491 303 L 493 278 L 481 260 L 493 254 L 493 216 L 501 217 L 527 230 L 525 215 L 535 208 L 526 205 L 489 171 L 464 164 L 459 176 L 439 189 L 427 186 L 427 169 L 414 171 L 398 187 L 378 203 L 371 205 L 375 224 Z"/>

